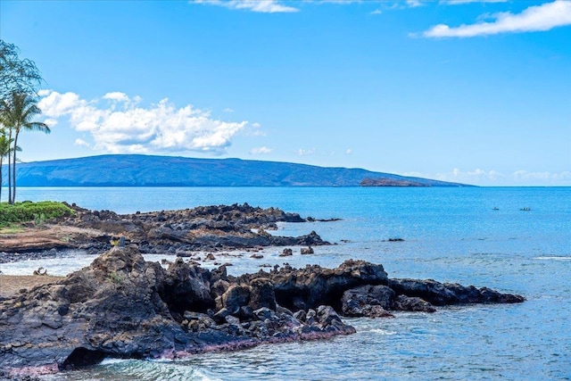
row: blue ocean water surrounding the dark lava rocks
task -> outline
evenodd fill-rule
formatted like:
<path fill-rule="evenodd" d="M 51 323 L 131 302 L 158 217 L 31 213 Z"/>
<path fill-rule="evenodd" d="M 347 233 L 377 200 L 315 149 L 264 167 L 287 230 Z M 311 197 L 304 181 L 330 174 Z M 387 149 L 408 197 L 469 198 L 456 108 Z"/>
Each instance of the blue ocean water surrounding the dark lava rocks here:
<path fill-rule="evenodd" d="M 280 235 L 316 230 L 336 243 L 287 261 L 299 267 L 364 259 L 383 263 L 389 277 L 490 286 L 528 299 L 351 319 L 358 333 L 333 340 L 177 362 L 110 360 L 51 379 L 571 379 L 571 188 L 21 188 L 19 198 L 118 212 L 250 203 L 337 217 L 343 220 L 280 225 Z M 396 237 L 404 242 L 386 242 Z M 281 264 L 279 252 L 265 250 L 263 262 Z M 78 254 L 58 265 L 65 272 L 86 261 Z M 257 271 L 260 263 L 240 259 L 228 269 Z"/>

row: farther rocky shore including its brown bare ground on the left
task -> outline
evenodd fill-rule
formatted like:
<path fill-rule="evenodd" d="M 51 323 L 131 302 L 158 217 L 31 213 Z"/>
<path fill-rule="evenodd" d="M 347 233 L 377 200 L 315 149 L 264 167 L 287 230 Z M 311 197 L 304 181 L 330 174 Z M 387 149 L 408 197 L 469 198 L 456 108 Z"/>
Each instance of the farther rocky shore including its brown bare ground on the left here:
<path fill-rule="evenodd" d="M 197 252 L 256 249 L 267 246 L 329 244 L 311 231 L 303 236 L 274 236 L 278 222 L 335 221 L 302 218 L 277 208 L 242 205 L 202 206 L 180 211 L 136 212 L 90 211 L 67 204 L 75 215 L 40 227 L 30 225 L 18 234 L 0 236 L 0 263 L 54 258 L 64 250 L 78 249 L 101 254 L 114 237 L 137 244 L 141 253 L 170 253 L 181 257 Z"/>

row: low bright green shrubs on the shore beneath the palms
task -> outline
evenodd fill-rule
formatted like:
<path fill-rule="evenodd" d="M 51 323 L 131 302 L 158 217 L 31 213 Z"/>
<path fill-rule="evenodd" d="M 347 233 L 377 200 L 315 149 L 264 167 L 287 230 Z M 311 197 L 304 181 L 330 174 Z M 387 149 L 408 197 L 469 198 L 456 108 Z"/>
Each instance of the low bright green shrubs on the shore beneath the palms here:
<path fill-rule="evenodd" d="M 42 201 L 39 203 L 0 203 L 0 228 L 13 224 L 34 222 L 41 225 L 48 219 L 70 216 L 74 211 L 63 203 Z"/>

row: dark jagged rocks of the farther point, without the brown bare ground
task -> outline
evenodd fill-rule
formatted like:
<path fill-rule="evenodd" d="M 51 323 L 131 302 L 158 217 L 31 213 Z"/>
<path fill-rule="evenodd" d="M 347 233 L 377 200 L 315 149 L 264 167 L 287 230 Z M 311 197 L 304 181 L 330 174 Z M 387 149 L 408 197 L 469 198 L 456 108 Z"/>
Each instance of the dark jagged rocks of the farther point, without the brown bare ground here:
<path fill-rule="evenodd" d="M 143 253 L 187 253 L 198 250 L 260 248 L 269 245 L 328 244 L 315 233 L 306 236 L 271 236 L 265 228 L 277 228 L 276 222 L 305 222 L 297 213 L 276 208 L 261 209 L 243 205 L 203 206 L 182 211 L 153 211 L 119 215 L 112 211 L 88 211 L 72 207 L 76 215 L 60 219 L 59 224 L 75 228 L 96 229 L 105 233 L 106 240 L 98 251 L 108 248 L 110 236 L 124 236 L 127 243 L 139 245 Z M 311 219 L 314 220 L 314 219 Z M 258 229 L 257 233 L 252 229 Z M 85 238 L 83 238 L 85 239 Z M 66 247 L 94 245 L 72 239 Z M 214 260 L 211 255 L 206 260 Z"/>

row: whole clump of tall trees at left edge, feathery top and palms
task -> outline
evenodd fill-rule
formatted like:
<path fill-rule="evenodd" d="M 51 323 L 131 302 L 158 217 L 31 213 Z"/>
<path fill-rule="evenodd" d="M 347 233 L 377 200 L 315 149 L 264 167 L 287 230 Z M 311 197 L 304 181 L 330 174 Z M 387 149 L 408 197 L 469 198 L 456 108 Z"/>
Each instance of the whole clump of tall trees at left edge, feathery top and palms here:
<path fill-rule="evenodd" d="M 36 64 L 20 58 L 20 49 L 0 39 L 0 168 L 8 158 L 8 203 L 16 200 L 16 153 L 23 131 L 50 132 L 46 123 L 35 121 L 42 111 L 37 107 L 37 87 L 42 77 Z M 2 196 L 0 170 L 0 200 Z"/>

